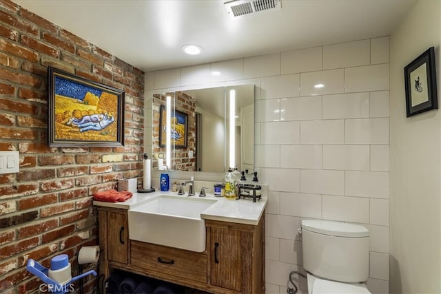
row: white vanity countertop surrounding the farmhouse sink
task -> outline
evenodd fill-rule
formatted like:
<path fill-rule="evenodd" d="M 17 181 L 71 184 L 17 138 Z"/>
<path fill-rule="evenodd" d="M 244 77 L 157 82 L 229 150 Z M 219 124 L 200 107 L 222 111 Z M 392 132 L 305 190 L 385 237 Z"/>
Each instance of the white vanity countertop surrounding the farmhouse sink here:
<path fill-rule="evenodd" d="M 133 209 L 139 204 L 143 204 L 152 198 L 160 195 L 191 197 L 199 199 L 214 199 L 216 202 L 201 213 L 203 220 L 220 220 L 223 222 L 236 222 L 239 224 L 258 224 L 267 204 L 267 198 L 262 197 L 253 202 L 252 198 L 241 198 L 239 200 L 230 200 L 225 197 L 215 197 L 212 193 L 200 198 L 198 193 L 196 196 L 178 195 L 177 192 L 171 191 L 154 191 L 153 193 L 134 193 L 132 198 L 124 202 L 103 202 L 94 200 L 93 204 L 100 207 L 112 207 L 116 209 Z"/>

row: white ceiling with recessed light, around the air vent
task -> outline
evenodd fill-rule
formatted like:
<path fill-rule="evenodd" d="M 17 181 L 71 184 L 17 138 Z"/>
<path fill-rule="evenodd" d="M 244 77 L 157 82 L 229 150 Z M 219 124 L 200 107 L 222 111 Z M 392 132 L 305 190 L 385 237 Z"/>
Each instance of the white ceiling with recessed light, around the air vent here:
<path fill-rule="evenodd" d="M 282 0 L 231 19 L 222 0 L 12 0 L 150 72 L 387 36 L 417 0 Z M 181 51 L 201 45 L 198 56 Z"/>

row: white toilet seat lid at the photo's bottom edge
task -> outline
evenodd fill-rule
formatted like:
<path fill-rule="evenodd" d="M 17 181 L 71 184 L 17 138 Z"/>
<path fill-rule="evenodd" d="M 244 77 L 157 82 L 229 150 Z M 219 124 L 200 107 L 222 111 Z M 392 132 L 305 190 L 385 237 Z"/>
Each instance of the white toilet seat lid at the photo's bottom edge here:
<path fill-rule="evenodd" d="M 323 280 L 318 277 L 314 277 L 308 273 L 308 293 L 313 294 L 369 294 L 364 283 L 361 284 L 346 284 L 341 282 L 334 282 L 330 280 Z"/>

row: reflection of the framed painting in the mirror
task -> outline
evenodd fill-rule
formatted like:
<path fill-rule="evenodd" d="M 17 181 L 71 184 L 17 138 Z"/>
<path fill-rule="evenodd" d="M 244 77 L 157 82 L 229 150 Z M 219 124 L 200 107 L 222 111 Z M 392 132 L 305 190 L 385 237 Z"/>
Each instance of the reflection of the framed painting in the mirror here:
<path fill-rule="evenodd" d="M 188 133 L 188 114 L 180 112 L 176 109 L 172 110 L 171 116 L 171 131 L 170 142 L 175 148 L 187 148 L 187 133 Z M 167 138 L 167 115 L 165 113 L 165 106 L 159 107 L 159 146 L 165 147 L 165 140 Z"/>

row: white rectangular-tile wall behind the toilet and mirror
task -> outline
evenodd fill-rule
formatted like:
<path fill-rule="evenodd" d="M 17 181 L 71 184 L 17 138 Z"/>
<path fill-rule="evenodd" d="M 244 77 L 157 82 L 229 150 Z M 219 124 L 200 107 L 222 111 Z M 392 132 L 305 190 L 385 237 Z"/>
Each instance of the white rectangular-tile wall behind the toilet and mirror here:
<path fill-rule="evenodd" d="M 267 294 L 286 293 L 289 272 L 303 271 L 302 218 L 365 225 L 367 286 L 389 292 L 389 36 L 161 70 L 145 79 L 146 94 L 256 85 L 255 170 L 269 184 Z M 300 278 L 299 293 L 306 290 Z"/>

